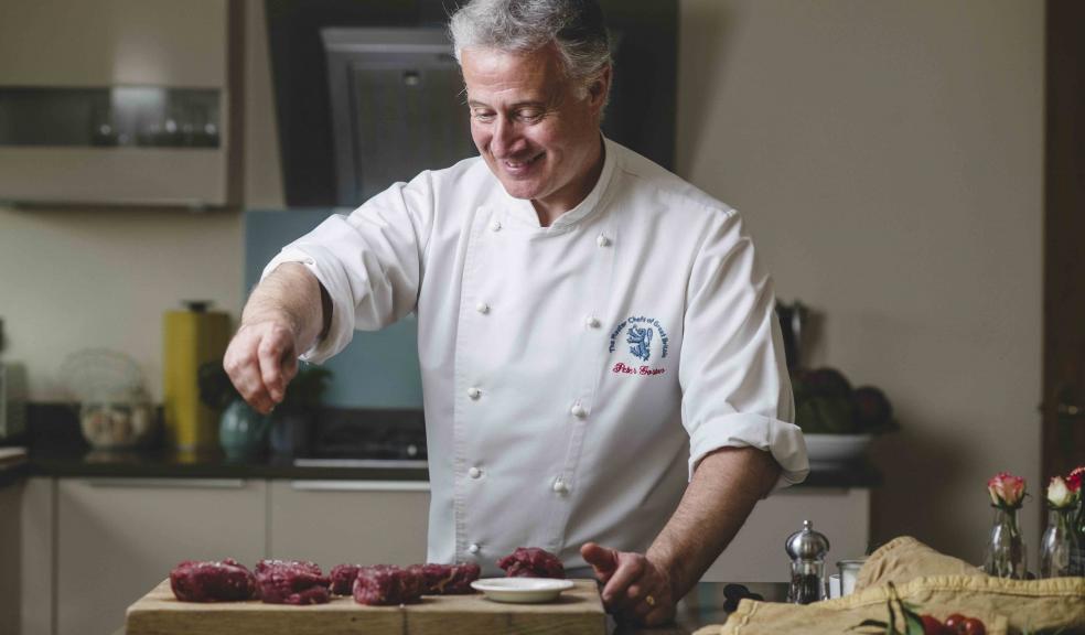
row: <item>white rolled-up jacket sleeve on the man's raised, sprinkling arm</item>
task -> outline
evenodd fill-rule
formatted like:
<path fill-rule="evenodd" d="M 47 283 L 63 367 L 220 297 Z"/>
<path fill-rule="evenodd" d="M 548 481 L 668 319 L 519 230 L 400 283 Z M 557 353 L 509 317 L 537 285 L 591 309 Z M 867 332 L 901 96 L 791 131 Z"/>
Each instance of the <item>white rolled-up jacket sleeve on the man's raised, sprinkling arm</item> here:
<path fill-rule="evenodd" d="M 351 343 L 355 330 L 376 331 L 415 310 L 433 215 L 429 172 L 423 172 L 348 216 L 330 216 L 271 259 L 261 280 L 283 262 L 301 262 L 332 301 L 327 334 L 301 359 L 323 363 Z"/>

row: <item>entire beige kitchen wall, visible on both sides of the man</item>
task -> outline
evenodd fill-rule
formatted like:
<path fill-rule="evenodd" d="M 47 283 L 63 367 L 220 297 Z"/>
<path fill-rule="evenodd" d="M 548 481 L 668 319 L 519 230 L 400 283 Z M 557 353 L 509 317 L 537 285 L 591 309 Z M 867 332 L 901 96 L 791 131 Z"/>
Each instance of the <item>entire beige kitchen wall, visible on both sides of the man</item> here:
<path fill-rule="evenodd" d="M 246 201 L 271 207 L 262 2 L 247 7 Z M 824 313 L 810 362 L 896 408 L 875 536 L 978 561 L 986 478 L 1039 492 L 1042 3 L 681 0 L 680 26 L 679 172 L 743 212 L 783 299 Z M 236 213 L 0 208 L 4 358 L 52 399 L 65 354 L 119 348 L 158 396 L 162 312 L 236 313 L 240 249 Z"/>

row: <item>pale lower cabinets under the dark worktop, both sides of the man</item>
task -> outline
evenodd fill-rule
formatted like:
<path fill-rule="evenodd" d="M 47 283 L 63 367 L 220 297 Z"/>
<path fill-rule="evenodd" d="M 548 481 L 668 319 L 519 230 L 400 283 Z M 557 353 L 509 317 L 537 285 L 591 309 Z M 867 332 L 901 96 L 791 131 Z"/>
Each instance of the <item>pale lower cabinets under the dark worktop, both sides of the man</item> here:
<path fill-rule="evenodd" d="M 251 567 L 290 558 L 325 569 L 422 562 L 429 498 L 423 481 L 33 477 L 11 484 L 0 488 L 0 561 L 17 566 L 14 572 L 0 567 L 0 633 L 112 633 L 127 606 L 186 559 L 233 557 Z M 804 519 L 829 537 L 826 561 L 835 570 L 837 560 L 867 552 L 869 517 L 868 487 L 782 489 L 758 505 L 703 580 L 786 581 L 784 540 Z M 15 577 L 18 592 L 9 593 Z"/>

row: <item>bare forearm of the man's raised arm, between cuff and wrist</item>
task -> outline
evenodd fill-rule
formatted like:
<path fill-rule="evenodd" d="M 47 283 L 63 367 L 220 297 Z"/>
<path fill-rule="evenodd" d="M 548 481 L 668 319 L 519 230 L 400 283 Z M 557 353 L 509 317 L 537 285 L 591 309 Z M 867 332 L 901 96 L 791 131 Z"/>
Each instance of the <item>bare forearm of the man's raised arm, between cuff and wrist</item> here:
<path fill-rule="evenodd" d="M 300 262 L 283 262 L 249 295 L 241 326 L 265 321 L 286 321 L 298 353 L 308 351 L 331 325 L 331 301 L 316 277 Z"/>

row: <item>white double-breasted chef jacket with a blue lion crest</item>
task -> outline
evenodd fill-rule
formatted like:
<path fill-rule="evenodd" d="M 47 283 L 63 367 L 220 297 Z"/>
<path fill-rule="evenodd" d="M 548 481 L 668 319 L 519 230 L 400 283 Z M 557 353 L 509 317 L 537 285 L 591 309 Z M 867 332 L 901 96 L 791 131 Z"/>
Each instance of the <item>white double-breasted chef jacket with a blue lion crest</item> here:
<path fill-rule="evenodd" d="M 331 295 L 310 362 L 417 314 L 430 562 L 644 552 L 722 446 L 771 452 L 780 485 L 809 471 L 739 215 L 604 142 L 594 189 L 549 227 L 476 157 L 329 217 L 265 269 L 303 262 Z"/>

